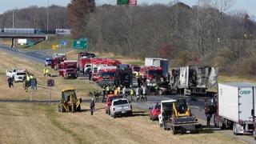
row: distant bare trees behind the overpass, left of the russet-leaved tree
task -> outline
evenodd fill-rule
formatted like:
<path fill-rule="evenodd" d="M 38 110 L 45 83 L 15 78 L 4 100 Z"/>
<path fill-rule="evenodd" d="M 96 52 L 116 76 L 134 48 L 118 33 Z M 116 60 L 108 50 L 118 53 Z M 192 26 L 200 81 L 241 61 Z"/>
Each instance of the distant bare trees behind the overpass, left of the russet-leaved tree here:
<path fill-rule="evenodd" d="M 49 30 L 70 28 L 65 6 L 49 6 Z M 47 30 L 47 8 L 30 6 L 25 9 L 8 10 L 0 14 L 0 28 L 34 28 Z"/>

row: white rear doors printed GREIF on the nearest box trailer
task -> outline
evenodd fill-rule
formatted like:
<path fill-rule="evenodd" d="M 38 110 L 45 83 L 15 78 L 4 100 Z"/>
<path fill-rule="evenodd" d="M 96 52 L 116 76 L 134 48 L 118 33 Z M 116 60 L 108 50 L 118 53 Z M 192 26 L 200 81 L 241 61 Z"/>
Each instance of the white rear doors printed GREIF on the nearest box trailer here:
<path fill-rule="evenodd" d="M 251 110 L 253 109 L 253 87 L 239 89 L 239 120 L 252 121 Z"/>

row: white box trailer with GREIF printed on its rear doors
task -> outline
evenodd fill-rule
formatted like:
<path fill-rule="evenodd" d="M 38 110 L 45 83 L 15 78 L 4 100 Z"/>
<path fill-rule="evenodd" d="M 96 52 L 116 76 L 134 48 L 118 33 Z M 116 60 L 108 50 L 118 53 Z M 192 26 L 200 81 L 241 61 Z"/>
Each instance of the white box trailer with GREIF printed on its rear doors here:
<path fill-rule="evenodd" d="M 254 83 L 218 84 L 218 126 L 233 128 L 234 134 L 254 132 L 256 115 Z"/>

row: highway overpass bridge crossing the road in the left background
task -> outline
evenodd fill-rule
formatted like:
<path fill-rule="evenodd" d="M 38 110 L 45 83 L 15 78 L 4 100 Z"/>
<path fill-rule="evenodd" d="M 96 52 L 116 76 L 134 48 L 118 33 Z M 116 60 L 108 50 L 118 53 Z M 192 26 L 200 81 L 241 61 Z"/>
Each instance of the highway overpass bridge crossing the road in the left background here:
<path fill-rule="evenodd" d="M 11 46 L 15 45 L 15 39 L 36 39 L 38 42 L 45 41 L 48 36 L 47 34 L 5 34 L 0 33 L 0 38 L 10 38 L 11 39 Z"/>

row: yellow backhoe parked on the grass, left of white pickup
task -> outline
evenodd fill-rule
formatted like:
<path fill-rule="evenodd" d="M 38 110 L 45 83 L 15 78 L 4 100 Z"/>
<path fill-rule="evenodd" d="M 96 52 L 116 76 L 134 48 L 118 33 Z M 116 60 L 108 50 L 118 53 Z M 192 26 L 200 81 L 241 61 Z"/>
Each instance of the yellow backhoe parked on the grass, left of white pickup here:
<path fill-rule="evenodd" d="M 77 98 L 74 88 L 62 90 L 62 99 L 58 104 L 59 112 L 76 112 L 81 110 L 82 98 Z"/>

